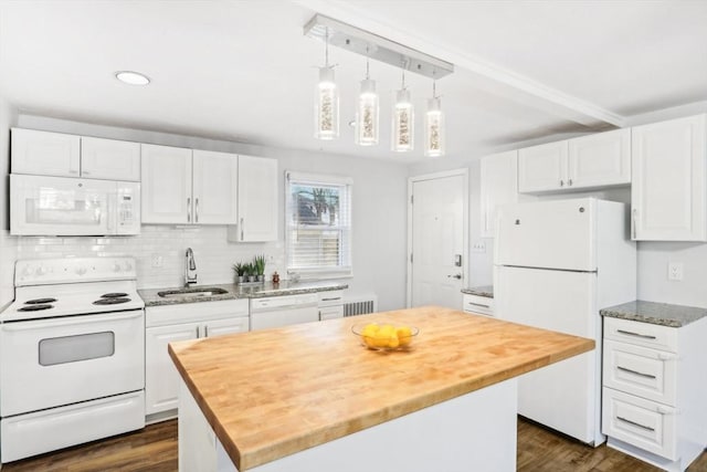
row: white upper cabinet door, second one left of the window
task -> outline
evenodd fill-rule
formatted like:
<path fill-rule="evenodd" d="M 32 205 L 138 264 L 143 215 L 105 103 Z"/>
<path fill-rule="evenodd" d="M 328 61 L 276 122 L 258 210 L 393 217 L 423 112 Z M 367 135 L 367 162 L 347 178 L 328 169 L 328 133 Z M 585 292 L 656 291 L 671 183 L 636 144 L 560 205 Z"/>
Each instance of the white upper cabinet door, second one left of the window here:
<path fill-rule="evenodd" d="M 193 150 L 193 222 L 235 224 L 238 222 L 238 156 Z"/>

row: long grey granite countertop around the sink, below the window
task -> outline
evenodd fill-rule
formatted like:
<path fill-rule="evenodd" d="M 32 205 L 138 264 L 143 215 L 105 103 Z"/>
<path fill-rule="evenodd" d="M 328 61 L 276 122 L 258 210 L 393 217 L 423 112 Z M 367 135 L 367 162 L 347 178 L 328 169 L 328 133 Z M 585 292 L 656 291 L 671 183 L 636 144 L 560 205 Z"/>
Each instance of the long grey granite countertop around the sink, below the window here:
<path fill-rule="evenodd" d="M 191 286 L 191 289 L 223 289 L 226 291 L 220 295 L 196 295 L 193 297 L 180 296 L 180 297 L 161 297 L 158 292 L 163 291 L 178 291 L 183 287 L 168 287 L 168 289 L 149 289 L 138 290 L 138 294 L 145 302 L 145 306 L 159 306 L 159 305 L 177 305 L 182 303 L 198 303 L 198 302 L 213 302 L 219 300 L 236 300 L 236 298 L 265 298 L 268 296 L 283 296 L 283 295 L 298 295 L 303 293 L 317 293 L 328 292 L 333 290 L 348 289 L 348 284 L 340 282 L 291 282 L 282 281 L 278 284 L 272 282 L 263 282 L 256 285 L 238 285 L 238 284 L 204 284 Z"/>

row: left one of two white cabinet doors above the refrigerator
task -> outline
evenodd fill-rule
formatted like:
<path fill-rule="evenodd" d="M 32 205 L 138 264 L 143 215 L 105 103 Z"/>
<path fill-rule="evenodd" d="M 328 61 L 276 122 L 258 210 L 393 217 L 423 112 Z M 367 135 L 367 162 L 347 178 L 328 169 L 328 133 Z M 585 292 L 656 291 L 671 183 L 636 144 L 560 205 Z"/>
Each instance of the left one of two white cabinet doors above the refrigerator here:
<path fill-rule="evenodd" d="M 567 187 L 566 140 L 518 150 L 518 191 L 538 192 Z"/>

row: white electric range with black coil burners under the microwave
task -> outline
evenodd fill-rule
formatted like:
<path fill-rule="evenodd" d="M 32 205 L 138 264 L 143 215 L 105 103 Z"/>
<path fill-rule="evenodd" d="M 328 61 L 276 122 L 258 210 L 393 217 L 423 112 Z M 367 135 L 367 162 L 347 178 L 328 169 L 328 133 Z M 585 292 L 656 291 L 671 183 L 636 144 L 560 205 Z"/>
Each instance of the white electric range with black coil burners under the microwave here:
<path fill-rule="evenodd" d="M 133 258 L 25 260 L 0 314 L 0 462 L 145 426 Z"/>

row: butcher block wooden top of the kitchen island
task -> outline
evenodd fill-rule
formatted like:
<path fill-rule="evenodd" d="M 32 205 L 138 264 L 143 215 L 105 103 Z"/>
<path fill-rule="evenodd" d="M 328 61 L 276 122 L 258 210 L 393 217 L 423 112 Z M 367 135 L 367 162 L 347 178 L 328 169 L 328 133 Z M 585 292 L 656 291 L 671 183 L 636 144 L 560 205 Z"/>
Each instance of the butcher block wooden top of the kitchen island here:
<path fill-rule="evenodd" d="M 377 321 L 419 327 L 412 349 L 362 347 L 351 326 Z M 171 343 L 169 354 L 244 471 L 593 347 L 591 339 L 428 306 Z"/>

